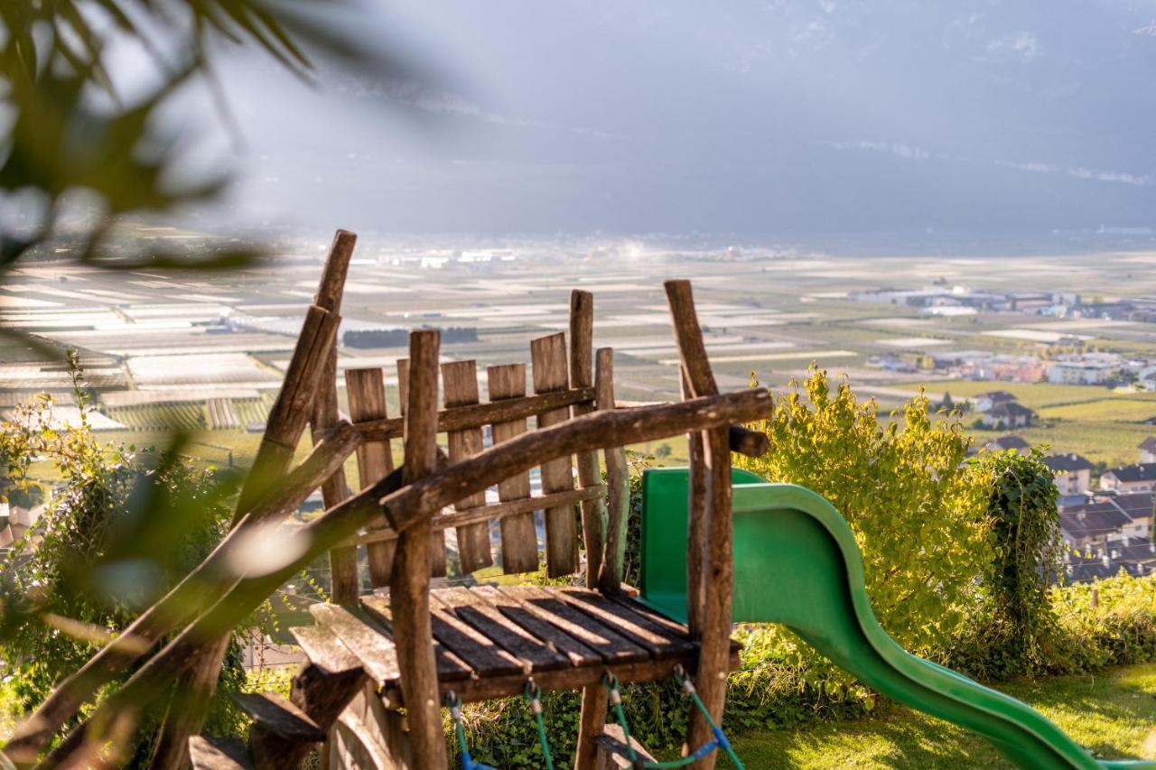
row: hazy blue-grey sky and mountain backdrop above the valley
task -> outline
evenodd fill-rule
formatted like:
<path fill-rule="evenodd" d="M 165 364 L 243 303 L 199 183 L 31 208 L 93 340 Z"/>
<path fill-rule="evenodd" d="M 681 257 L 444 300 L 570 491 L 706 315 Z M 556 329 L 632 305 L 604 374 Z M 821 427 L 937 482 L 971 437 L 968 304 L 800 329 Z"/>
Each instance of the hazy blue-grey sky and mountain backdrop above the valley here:
<path fill-rule="evenodd" d="M 1156 225 L 1156 0 L 380 7 L 362 29 L 433 83 L 327 69 L 307 88 L 255 54 L 222 61 L 246 142 L 213 146 L 238 175 L 228 217 L 380 232 Z"/>

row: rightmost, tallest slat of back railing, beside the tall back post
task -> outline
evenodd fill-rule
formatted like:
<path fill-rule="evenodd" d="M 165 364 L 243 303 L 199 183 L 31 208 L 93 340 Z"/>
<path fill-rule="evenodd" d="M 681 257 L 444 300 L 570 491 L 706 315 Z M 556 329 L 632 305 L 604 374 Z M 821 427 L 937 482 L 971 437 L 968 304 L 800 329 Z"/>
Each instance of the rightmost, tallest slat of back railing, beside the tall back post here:
<path fill-rule="evenodd" d="M 534 368 L 534 392 L 549 393 L 565 390 L 570 382 L 566 373 L 566 336 L 561 332 L 539 338 L 529 343 L 531 362 Z M 538 427 L 549 428 L 570 419 L 570 409 L 553 409 L 538 415 Z M 556 493 L 572 489 L 573 460 L 565 456 L 543 462 L 542 491 Z M 544 512 L 546 519 L 546 572 L 549 577 L 562 577 L 578 571 L 578 523 L 573 506 L 558 505 Z"/>

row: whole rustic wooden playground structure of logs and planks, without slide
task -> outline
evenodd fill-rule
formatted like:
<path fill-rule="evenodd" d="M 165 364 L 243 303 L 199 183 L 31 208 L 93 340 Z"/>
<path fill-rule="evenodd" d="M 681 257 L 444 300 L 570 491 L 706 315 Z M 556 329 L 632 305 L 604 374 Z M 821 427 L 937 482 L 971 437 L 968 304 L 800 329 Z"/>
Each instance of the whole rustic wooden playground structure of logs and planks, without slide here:
<path fill-rule="evenodd" d="M 415 331 L 408 358 L 398 362 L 401 414 L 387 414 L 381 369 L 351 369 L 344 420 L 336 335 L 354 244 L 349 232 L 334 238 L 229 535 L 17 727 L 3 749 L 15 763 L 116 767 L 118 741 L 142 715 L 164 710 L 153 768 L 292 768 L 321 743 L 328 768 L 440 769 L 444 706 L 580 689 L 575 767 L 631 767 L 647 755 L 607 725 L 616 684 L 676 672 L 690 675 L 703 705 L 691 711 L 688 753 L 718 740 L 739 651 L 731 639 L 731 452 L 766 450 L 765 437 L 740 425 L 768 415 L 771 398 L 764 388 L 718 392 L 690 284 L 665 284 L 680 402 L 615 402 L 613 350 L 593 349 L 593 298 L 576 290 L 569 332 L 531 343 L 528 387 L 526 364 L 511 363 L 489 367 L 482 388 L 475 362 L 440 363 L 438 332 Z M 294 465 L 306 427 L 313 450 Z M 622 583 L 630 512 L 623 447 L 679 434 L 690 446 L 686 625 L 632 600 Z M 405 449 L 400 468 L 393 439 Z M 356 494 L 343 471 L 351 454 Z M 535 467 L 540 494 L 531 489 Z M 487 502 L 495 487 L 497 502 Z M 326 511 L 291 526 L 290 514 L 317 488 Z M 431 590 L 431 579 L 446 575 L 446 531 L 455 533 L 462 575 L 495 564 L 491 521 L 502 571 L 538 571 L 534 511 L 543 511 L 547 575 L 578 575 L 581 585 Z M 292 630 L 306 662 L 291 697 L 238 698 L 253 719 L 247 745 L 200 735 L 231 629 L 326 553 L 332 601 L 312 607 L 314 625 Z M 237 567 L 254 554 L 252 567 Z M 75 721 L 108 681 L 142 660 Z M 57 735 L 62 740 L 44 754 Z M 712 767 L 716 754 L 694 767 Z"/>

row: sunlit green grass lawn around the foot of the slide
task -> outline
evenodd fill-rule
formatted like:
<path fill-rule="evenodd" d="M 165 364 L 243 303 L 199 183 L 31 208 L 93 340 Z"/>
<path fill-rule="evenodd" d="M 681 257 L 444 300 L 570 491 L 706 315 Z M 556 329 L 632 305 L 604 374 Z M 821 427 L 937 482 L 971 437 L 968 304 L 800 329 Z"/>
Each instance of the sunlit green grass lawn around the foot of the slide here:
<path fill-rule="evenodd" d="M 1000 689 L 1099 756 L 1156 758 L 1156 664 Z M 1014 767 L 963 728 L 890 703 L 870 718 L 742 735 L 734 747 L 748 768 Z M 732 765 L 722 760 L 719 767 Z"/>

